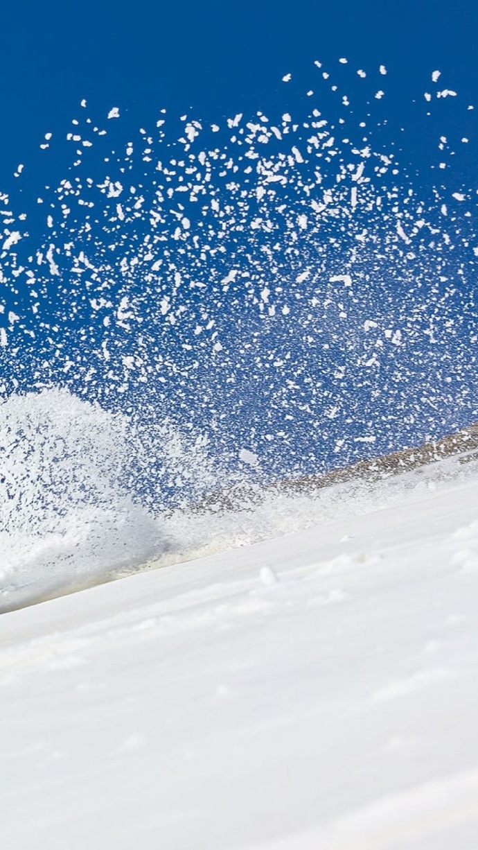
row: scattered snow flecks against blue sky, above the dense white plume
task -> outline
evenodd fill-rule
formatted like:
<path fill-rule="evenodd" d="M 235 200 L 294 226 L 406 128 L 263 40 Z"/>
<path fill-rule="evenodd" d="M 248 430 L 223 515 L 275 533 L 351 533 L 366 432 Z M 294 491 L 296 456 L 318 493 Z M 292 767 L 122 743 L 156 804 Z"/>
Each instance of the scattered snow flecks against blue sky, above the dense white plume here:
<path fill-rule="evenodd" d="M 172 416 L 231 473 L 245 450 L 270 479 L 475 418 L 475 113 L 454 99 L 459 133 L 430 130 L 417 169 L 375 97 L 384 71 L 340 64 L 366 104 L 322 70 L 305 105 L 222 126 L 161 110 L 134 129 L 85 106 L 48 141 L 71 165 L 27 218 L 0 196 L 0 392 L 54 384 Z M 420 102 L 445 123 L 443 98 Z"/>

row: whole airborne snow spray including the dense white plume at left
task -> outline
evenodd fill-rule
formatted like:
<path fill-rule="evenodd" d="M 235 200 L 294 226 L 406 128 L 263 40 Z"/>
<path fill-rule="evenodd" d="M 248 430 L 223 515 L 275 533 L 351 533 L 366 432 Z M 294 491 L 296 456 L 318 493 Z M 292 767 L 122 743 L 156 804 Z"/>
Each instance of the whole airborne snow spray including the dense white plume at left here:
<path fill-rule="evenodd" d="M 430 69 L 413 161 L 390 76 L 342 58 L 267 116 L 82 101 L 45 128 L 48 185 L 22 163 L 0 193 L 9 597 L 233 542 L 240 514 L 180 544 L 171 515 L 478 416 L 475 110 Z"/>

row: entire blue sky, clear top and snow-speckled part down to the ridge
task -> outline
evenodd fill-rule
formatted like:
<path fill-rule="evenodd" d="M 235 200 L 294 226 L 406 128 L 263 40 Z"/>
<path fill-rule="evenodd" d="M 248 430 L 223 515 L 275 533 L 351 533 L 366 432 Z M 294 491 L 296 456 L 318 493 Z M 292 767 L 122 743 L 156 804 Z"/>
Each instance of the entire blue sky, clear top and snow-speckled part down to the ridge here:
<path fill-rule="evenodd" d="M 0 377 L 10 388 L 67 385 L 127 411 L 150 402 L 155 416 L 175 407 L 217 445 L 252 448 L 279 473 L 470 422 L 476 31 L 471 0 L 4 8 L 0 194 L 17 219 L 3 220 Z M 113 106 L 120 121 L 107 120 Z M 284 134 L 241 147 L 257 111 Z M 326 119 L 330 156 L 327 133 L 323 149 L 311 147 L 312 111 Z M 235 139 L 225 119 L 237 113 Z M 180 116 L 203 120 L 190 145 Z M 45 133 L 53 141 L 40 150 Z M 380 170 L 387 151 L 398 167 L 387 159 Z M 257 161 L 269 156 L 286 176 L 266 190 Z M 235 184 L 222 171 L 228 159 Z M 191 164 L 202 194 L 188 200 L 175 192 L 196 179 Z M 65 179 L 81 184 L 76 194 L 59 188 Z M 336 191 L 337 216 L 334 205 L 323 212 L 325 189 Z"/>

